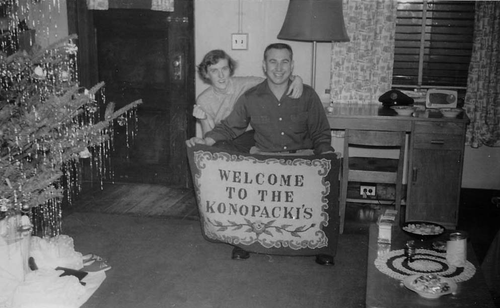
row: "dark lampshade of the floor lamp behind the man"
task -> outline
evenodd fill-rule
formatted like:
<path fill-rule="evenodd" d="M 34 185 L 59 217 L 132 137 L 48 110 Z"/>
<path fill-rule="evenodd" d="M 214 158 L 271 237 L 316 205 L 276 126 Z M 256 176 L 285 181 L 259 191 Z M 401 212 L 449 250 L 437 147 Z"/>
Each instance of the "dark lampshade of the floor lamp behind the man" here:
<path fill-rule="evenodd" d="M 278 39 L 348 42 L 341 0 L 290 0 Z"/>

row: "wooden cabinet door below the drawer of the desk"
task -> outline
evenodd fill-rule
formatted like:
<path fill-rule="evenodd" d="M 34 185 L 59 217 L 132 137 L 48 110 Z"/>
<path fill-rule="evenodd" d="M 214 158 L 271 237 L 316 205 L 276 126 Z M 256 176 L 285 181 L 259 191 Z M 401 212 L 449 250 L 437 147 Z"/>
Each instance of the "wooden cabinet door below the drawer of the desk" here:
<path fill-rule="evenodd" d="M 456 226 L 461 169 L 460 150 L 414 148 L 406 220 Z"/>

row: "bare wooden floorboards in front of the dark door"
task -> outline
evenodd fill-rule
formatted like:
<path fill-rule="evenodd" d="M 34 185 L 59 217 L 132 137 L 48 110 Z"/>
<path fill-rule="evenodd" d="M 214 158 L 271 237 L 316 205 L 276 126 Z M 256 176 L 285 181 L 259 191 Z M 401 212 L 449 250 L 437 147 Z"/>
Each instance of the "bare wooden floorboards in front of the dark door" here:
<path fill-rule="evenodd" d="M 70 209 L 79 212 L 198 219 L 194 191 L 165 185 L 114 183 L 83 187 Z"/>

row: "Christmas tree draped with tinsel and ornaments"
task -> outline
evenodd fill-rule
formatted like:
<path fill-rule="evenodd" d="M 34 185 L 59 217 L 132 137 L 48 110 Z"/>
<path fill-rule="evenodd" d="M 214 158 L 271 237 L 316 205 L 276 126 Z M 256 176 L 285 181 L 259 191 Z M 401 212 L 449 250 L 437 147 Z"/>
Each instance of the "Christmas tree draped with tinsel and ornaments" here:
<path fill-rule="evenodd" d="M 0 220 L 31 217 L 40 208 L 50 235 L 60 231 L 60 202 L 78 178 L 74 166 L 90 152 L 110 149 L 113 121 L 127 124 L 141 103 L 115 111 L 105 104 L 103 83 L 80 87 L 75 38 L 0 52 Z M 47 209 L 55 214 L 47 216 Z"/>

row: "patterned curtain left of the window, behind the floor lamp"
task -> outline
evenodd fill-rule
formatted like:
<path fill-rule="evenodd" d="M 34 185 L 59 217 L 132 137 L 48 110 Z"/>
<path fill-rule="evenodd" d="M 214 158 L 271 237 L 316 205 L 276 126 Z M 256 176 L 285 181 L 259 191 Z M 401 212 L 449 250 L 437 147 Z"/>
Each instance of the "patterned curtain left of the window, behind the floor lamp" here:
<path fill-rule="evenodd" d="M 330 99 L 380 104 L 391 89 L 397 1 L 343 0 L 349 42 L 332 43 Z"/>

